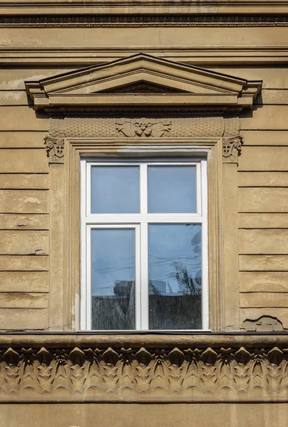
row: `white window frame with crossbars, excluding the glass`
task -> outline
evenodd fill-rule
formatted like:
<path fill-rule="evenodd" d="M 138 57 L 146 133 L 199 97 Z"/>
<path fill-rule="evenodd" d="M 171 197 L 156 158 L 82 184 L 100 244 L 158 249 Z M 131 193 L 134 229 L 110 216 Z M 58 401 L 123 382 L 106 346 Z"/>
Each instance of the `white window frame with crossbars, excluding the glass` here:
<path fill-rule="evenodd" d="M 192 214 L 148 214 L 148 165 L 196 167 L 197 212 Z M 91 214 L 91 167 L 140 167 L 140 214 Z M 93 228 L 135 229 L 135 330 L 148 331 L 148 223 L 202 224 L 202 330 L 209 330 L 207 160 L 185 159 L 95 159 L 81 158 L 81 330 L 91 325 L 91 230 Z M 156 330 L 168 332 L 167 330 Z M 171 333 L 181 330 L 170 330 Z M 183 330 L 195 332 L 199 330 Z M 98 331 L 99 332 L 99 331 Z M 121 332 L 108 331 L 103 332 Z M 123 332 L 129 332 L 127 330 Z"/>

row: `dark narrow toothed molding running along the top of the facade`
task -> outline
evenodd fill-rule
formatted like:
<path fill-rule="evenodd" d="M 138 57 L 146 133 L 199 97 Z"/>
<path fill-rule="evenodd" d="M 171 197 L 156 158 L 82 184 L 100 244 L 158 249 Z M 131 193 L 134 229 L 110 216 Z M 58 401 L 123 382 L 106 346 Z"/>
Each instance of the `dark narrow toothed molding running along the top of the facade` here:
<path fill-rule="evenodd" d="M 0 16 L 0 27 L 155 27 L 155 26 L 288 26 L 287 14 L 185 14 L 185 15 L 29 15 Z"/>

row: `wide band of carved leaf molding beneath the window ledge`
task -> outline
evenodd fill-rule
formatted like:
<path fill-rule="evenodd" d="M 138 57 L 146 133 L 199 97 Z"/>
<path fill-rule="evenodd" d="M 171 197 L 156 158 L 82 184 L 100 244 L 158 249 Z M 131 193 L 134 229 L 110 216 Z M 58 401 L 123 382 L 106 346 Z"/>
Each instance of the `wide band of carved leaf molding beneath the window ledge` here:
<path fill-rule="evenodd" d="M 287 401 L 287 347 L 226 341 L 225 347 L 67 347 L 57 337 L 59 347 L 2 347 L 0 401 Z"/>

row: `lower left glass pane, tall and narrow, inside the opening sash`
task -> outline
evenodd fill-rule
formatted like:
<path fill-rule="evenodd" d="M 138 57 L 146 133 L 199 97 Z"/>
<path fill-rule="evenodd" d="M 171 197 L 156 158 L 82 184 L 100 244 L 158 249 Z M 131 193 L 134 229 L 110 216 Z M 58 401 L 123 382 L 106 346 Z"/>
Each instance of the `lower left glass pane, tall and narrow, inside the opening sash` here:
<path fill-rule="evenodd" d="M 92 329 L 135 329 L 135 230 L 91 231 Z"/>

